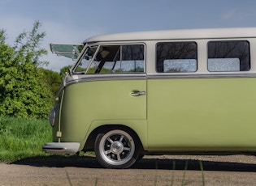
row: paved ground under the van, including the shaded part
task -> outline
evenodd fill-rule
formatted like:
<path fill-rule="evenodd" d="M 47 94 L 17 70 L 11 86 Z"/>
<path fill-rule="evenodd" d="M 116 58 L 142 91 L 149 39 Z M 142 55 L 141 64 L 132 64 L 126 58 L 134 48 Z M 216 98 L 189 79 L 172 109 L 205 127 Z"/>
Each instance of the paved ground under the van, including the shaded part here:
<path fill-rule="evenodd" d="M 199 160 L 204 171 L 201 171 Z M 187 171 L 184 171 L 186 165 Z M 256 157 L 150 156 L 126 170 L 102 168 L 93 157 L 39 157 L 0 163 L 0 185 L 182 184 L 256 186 Z"/>

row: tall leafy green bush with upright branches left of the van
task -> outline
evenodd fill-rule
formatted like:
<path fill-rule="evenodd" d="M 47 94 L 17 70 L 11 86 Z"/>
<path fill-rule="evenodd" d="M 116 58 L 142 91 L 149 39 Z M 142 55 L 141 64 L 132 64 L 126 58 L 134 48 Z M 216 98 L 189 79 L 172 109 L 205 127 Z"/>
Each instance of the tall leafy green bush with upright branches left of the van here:
<path fill-rule="evenodd" d="M 14 46 L 6 43 L 6 32 L 0 31 L 0 114 L 17 117 L 46 118 L 52 106 L 52 93 L 38 66 L 46 49 L 40 42 L 46 36 L 39 33 L 36 21 L 32 32 L 22 32 Z"/>

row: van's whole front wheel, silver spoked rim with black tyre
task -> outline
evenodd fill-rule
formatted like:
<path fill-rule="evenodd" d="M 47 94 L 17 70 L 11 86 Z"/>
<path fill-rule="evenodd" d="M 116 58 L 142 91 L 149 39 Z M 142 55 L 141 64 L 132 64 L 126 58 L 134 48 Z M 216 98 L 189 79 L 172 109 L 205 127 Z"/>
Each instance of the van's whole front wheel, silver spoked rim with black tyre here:
<path fill-rule="evenodd" d="M 137 160 L 137 142 L 124 130 L 113 129 L 99 134 L 95 143 L 98 162 L 104 167 L 130 167 Z"/>

